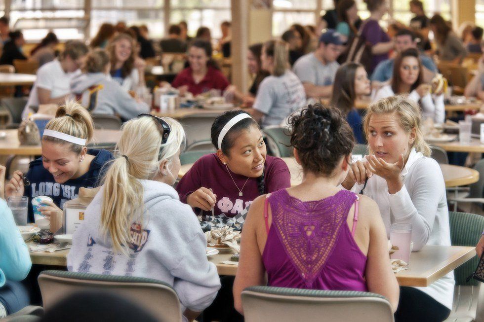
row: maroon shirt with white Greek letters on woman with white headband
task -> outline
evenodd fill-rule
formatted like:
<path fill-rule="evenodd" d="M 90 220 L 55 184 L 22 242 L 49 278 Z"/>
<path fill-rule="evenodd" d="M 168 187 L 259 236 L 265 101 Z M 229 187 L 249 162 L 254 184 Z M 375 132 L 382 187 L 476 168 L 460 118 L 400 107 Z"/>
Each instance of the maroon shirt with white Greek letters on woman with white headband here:
<path fill-rule="evenodd" d="M 230 170 L 229 170 L 230 171 Z M 230 172 L 235 183 L 242 189 L 247 177 Z M 225 165 L 215 153 L 202 156 L 183 178 L 178 182 L 176 191 L 183 203 L 187 202 L 187 196 L 200 187 L 212 188 L 217 195 L 214 207 L 215 215 L 222 213 L 233 217 L 252 203 L 259 196 L 257 178 L 249 178 L 242 189 L 242 197 L 239 196 L 234 181 L 229 176 Z M 266 156 L 264 165 L 264 193 L 270 193 L 291 186 L 291 175 L 287 165 L 281 158 Z M 196 209 L 199 215 L 200 209 Z M 203 212 L 203 215 L 211 215 L 211 211 Z"/>

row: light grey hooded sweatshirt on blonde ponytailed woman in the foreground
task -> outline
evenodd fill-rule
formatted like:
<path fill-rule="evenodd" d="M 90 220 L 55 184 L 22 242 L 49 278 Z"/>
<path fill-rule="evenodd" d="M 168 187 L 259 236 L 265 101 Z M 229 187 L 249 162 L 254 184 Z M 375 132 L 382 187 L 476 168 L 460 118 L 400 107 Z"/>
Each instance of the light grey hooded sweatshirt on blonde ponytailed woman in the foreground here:
<path fill-rule="evenodd" d="M 172 286 L 185 308 L 200 312 L 220 288 L 217 268 L 208 262 L 206 239 L 192 208 L 180 202 L 173 187 L 140 180 L 145 213 L 130 228 L 129 257 L 113 251 L 110 237 L 99 231 L 103 190 L 84 213 L 67 257 L 69 271 L 137 276 Z"/>

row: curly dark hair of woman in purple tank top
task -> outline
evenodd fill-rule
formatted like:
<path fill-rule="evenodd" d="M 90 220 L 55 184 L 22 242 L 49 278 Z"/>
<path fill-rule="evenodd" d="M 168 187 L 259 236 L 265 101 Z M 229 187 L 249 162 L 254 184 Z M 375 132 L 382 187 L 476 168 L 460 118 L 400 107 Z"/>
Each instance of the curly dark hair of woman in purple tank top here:
<path fill-rule="evenodd" d="M 353 131 L 341 111 L 317 103 L 289 118 L 291 145 L 305 172 L 330 176 L 341 160 L 351 154 Z"/>

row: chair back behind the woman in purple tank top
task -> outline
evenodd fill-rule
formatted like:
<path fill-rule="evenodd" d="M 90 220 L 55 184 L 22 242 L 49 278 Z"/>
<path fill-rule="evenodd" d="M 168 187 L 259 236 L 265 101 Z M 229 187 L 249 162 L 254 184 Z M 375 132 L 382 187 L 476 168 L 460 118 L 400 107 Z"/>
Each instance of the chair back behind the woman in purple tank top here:
<path fill-rule="evenodd" d="M 393 322 L 390 302 L 379 294 L 251 286 L 242 291 L 245 322 Z"/>

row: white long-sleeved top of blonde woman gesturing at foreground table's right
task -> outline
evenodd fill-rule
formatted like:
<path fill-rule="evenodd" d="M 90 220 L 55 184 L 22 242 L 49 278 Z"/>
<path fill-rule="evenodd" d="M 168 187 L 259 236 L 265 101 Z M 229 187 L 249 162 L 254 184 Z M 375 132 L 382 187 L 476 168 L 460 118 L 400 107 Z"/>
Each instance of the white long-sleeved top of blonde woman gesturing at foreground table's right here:
<path fill-rule="evenodd" d="M 437 161 L 412 148 L 401 175 L 403 187 L 395 194 L 390 194 L 386 180 L 376 175 L 368 179 L 364 189 L 364 194 L 373 199 L 380 209 L 388 239 L 390 224 L 409 223 L 412 224 L 413 251 L 425 245 L 449 246 L 445 182 Z M 351 190 L 358 193 L 362 188 L 362 184 L 355 184 Z M 453 271 L 430 286 L 416 288 L 452 310 Z"/>

